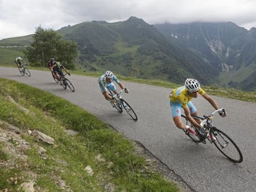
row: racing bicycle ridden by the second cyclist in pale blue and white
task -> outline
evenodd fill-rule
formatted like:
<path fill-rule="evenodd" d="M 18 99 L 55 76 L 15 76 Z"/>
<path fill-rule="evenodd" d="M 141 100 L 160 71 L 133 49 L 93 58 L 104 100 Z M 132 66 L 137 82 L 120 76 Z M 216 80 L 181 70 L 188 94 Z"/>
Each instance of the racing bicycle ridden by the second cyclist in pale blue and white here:
<path fill-rule="evenodd" d="M 109 100 L 111 106 L 117 109 L 120 113 L 123 111 L 123 109 L 127 112 L 127 114 L 132 117 L 134 120 L 138 120 L 137 115 L 134 112 L 134 109 L 128 104 L 127 101 L 121 98 L 122 91 L 125 91 L 126 88 L 120 90 L 117 94 L 114 94 L 113 91 L 111 91 L 108 87 L 109 95 L 112 97 L 112 100 Z"/>

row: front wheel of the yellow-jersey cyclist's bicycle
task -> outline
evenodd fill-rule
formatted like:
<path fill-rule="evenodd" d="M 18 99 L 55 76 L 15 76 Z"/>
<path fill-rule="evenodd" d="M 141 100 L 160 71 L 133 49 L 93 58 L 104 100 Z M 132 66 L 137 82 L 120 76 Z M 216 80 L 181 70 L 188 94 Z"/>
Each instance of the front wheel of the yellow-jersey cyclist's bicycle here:
<path fill-rule="evenodd" d="M 213 143 L 224 156 L 228 157 L 228 159 L 233 162 L 242 162 L 242 152 L 226 133 L 213 127 L 210 130 L 210 136 L 212 140 L 214 137 L 216 138 L 216 140 L 214 138 Z"/>

